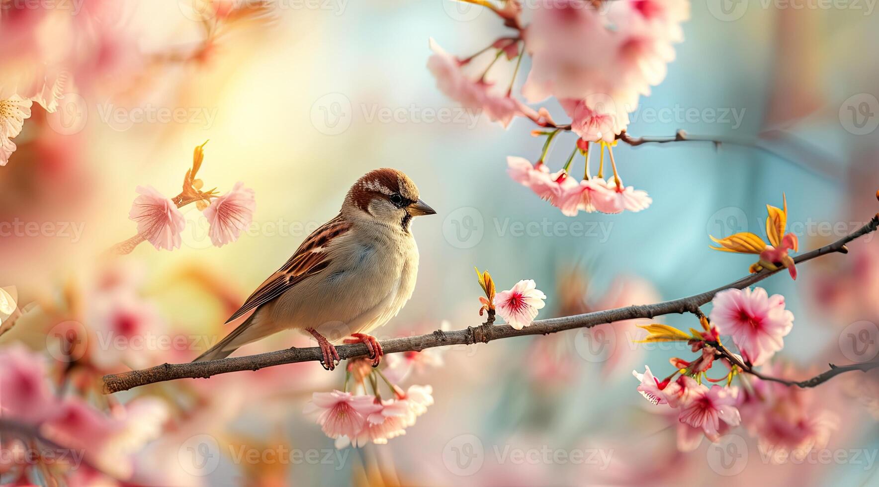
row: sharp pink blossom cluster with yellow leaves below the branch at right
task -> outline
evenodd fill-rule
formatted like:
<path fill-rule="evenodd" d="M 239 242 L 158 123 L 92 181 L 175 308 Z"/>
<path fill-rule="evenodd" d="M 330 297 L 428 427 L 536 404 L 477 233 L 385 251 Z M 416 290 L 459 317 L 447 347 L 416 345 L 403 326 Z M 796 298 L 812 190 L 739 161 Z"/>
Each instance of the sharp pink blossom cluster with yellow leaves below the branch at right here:
<path fill-rule="evenodd" d="M 637 390 L 644 398 L 655 405 L 667 404 L 677 410 L 680 423 L 678 445 L 683 451 L 698 447 L 702 433 L 709 440 L 717 440 L 730 427 L 739 425 L 743 416 L 747 419 L 748 427 L 755 434 L 759 432 L 763 436 L 769 436 L 771 426 L 763 428 L 760 425 L 775 421 L 771 408 L 763 411 L 769 396 L 761 393 L 760 389 L 769 386 L 759 382 L 756 377 L 745 379 L 738 364 L 744 362 L 748 367 L 766 364 L 783 347 L 783 338 L 793 327 L 793 313 L 784 308 L 783 296 L 769 296 L 760 287 L 753 290 L 728 289 L 716 294 L 712 303 L 714 309 L 710 314 L 710 325 L 707 324 L 708 320 L 703 321 L 706 326 L 703 332 L 691 331 L 692 335 L 687 335 L 665 325 L 645 327 L 651 332 L 651 337 L 645 341 L 687 341 L 694 352 L 700 353 L 695 360 L 672 358 L 670 361 L 675 371 L 662 381 L 652 374 L 650 367 L 646 367 L 643 374 L 633 371 L 641 382 Z M 737 361 L 718 353 L 716 347 L 722 346 L 719 345 L 721 335 L 729 335 L 736 344 L 740 353 L 735 356 Z M 719 358 L 723 358 L 729 366 L 729 372 L 719 379 L 711 379 L 708 370 Z M 675 380 L 677 374 L 680 375 Z M 735 377 L 741 379 L 743 387 L 731 385 Z M 703 379 L 708 382 L 726 381 L 727 385 L 715 384 L 708 388 L 702 385 Z M 799 413 L 794 415 L 798 418 L 801 416 Z M 787 418 L 788 412 L 782 416 Z M 780 421 L 784 420 L 782 418 Z M 816 431 L 818 426 L 825 424 L 818 423 L 814 425 Z M 802 445 L 803 441 L 797 444 Z"/>

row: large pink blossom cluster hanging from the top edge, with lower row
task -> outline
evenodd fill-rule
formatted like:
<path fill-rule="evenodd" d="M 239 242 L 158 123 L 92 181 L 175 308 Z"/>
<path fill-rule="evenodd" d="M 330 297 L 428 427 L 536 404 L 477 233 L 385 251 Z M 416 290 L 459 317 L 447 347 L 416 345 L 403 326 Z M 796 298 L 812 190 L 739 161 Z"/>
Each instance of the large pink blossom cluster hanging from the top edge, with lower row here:
<path fill-rule="evenodd" d="M 516 117 L 544 127 L 533 133 L 546 137 L 541 156 L 534 164 L 508 157 L 510 176 L 570 216 L 579 211 L 613 214 L 649 207 L 652 200 L 646 192 L 622 184 L 613 148 L 639 98 L 665 78 L 666 65 L 674 59 L 673 45 L 683 40 L 680 24 L 689 18 L 687 0 L 541 0 L 530 12 L 524 12 L 518 0 L 505 0 L 500 6 L 470 3 L 497 13 L 513 33 L 464 58 L 448 54 L 431 40 L 433 55 L 427 67 L 440 91 L 461 105 L 482 110 L 503 127 Z M 532 14 L 528 24 L 526 13 Z M 535 109 L 512 96 L 525 55 L 531 58 L 531 69 L 521 86 L 522 96 L 532 104 L 556 98 L 570 123 L 560 125 L 545 106 Z M 492 71 L 498 70 L 501 59 L 515 60 L 508 82 L 501 82 Z M 563 130 L 579 138 L 562 169 L 553 172 L 546 158 L 556 134 Z M 600 159 L 594 176 L 590 172 L 593 146 L 598 147 Z M 605 179 L 605 152 L 613 178 Z M 585 156 L 582 179 L 571 172 L 578 154 Z"/>

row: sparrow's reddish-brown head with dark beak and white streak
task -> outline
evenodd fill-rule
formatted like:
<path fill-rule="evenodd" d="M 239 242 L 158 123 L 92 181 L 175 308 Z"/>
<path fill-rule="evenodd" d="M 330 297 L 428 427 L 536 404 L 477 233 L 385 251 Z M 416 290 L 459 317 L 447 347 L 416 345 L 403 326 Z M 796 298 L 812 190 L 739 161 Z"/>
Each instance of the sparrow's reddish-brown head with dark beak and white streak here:
<path fill-rule="evenodd" d="M 418 187 L 408 176 L 390 168 L 369 171 L 358 179 L 345 197 L 345 207 L 355 218 L 372 218 L 403 231 L 409 231 L 412 217 L 436 213 L 418 199 Z"/>

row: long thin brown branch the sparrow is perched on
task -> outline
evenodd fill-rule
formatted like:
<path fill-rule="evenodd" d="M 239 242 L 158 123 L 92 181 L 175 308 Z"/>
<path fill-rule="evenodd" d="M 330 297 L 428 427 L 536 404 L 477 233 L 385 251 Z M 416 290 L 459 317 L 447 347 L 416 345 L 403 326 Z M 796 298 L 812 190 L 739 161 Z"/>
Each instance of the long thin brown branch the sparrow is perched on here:
<path fill-rule="evenodd" d="M 809 251 L 797 256 L 794 261 L 799 264 L 813 258 L 818 258 L 827 254 L 839 252 L 847 253 L 846 244 L 855 238 L 867 235 L 879 228 L 879 214 L 876 214 L 866 225 L 857 229 L 854 233 L 844 236 L 836 242 L 825 245 L 824 247 Z M 488 343 L 492 340 L 501 338 L 523 337 L 527 335 L 547 335 L 548 333 L 556 333 L 558 331 L 573 330 L 575 328 L 592 328 L 604 323 L 613 323 L 622 320 L 630 320 L 636 318 L 653 318 L 655 316 L 668 315 L 672 313 L 692 312 L 694 314 L 701 313 L 700 307 L 710 302 L 715 294 L 724 289 L 736 288 L 743 289 L 764 280 L 767 277 L 781 271 L 763 270 L 759 273 L 752 273 L 740 280 L 730 282 L 722 287 L 717 287 L 701 294 L 694 294 L 685 298 L 679 298 L 672 301 L 657 302 L 648 305 L 634 305 L 625 308 L 607 309 L 605 311 L 595 311 L 575 316 L 561 316 L 557 318 L 548 318 L 538 320 L 531 323 L 530 326 L 521 330 L 515 330 L 508 324 L 501 325 L 479 325 L 476 327 L 469 326 L 464 330 L 455 331 L 434 331 L 426 335 L 418 335 L 415 337 L 390 338 L 381 341 L 381 347 L 385 353 L 400 352 L 420 352 L 425 348 L 432 348 L 446 345 L 473 345 L 476 343 Z M 341 360 L 353 359 L 357 357 L 367 357 L 367 345 L 362 343 L 352 345 L 339 345 L 336 347 L 339 358 Z M 215 374 L 227 374 L 229 372 L 237 372 L 242 370 L 258 370 L 264 367 L 272 367 L 282 364 L 294 362 L 307 362 L 321 360 L 321 349 L 318 347 L 310 348 L 290 348 L 287 350 L 279 350 L 277 352 L 259 353 L 257 355 L 249 355 L 245 357 L 233 357 L 220 360 L 208 360 L 204 362 L 186 363 L 186 364 L 163 364 L 156 367 L 149 367 L 142 370 L 132 370 L 121 374 L 108 374 L 104 376 L 104 393 L 112 394 L 120 390 L 132 389 L 138 386 L 151 384 L 154 382 L 172 381 L 175 379 L 185 378 L 207 378 Z M 863 364 L 860 366 L 844 366 L 834 367 L 831 371 L 822 374 L 825 376 L 819 382 L 814 384 L 811 381 L 807 386 L 813 387 L 821 382 L 830 379 L 832 376 L 842 374 L 848 370 L 865 370 Z M 752 372 L 753 374 L 753 372 Z M 757 375 L 757 374 L 755 374 Z M 759 377 L 759 375 L 757 375 Z M 822 377 L 819 376 L 819 377 Z M 772 379 L 767 379 L 772 380 Z M 786 383 L 786 382 L 784 382 Z M 798 382 L 790 382 L 788 385 L 799 385 Z"/>

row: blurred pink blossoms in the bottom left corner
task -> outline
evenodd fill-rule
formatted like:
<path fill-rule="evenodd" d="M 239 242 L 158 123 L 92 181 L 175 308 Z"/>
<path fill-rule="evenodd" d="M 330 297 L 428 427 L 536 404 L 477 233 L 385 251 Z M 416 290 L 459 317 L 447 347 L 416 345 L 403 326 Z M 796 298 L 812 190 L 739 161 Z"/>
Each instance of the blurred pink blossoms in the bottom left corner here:
<path fill-rule="evenodd" d="M 168 416 L 165 404 L 151 398 L 135 399 L 107 415 L 78 396 L 58 394 L 49 376 L 46 361 L 24 346 L 0 349 L 0 416 L 4 421 L 78 452 L 85 464 L 73 463 L 75 456 L 70 455 L 71 469 L 94 468 L 120 478 L 130 476 L 134 468 L 131 454 L 156 437 Z M 4 435 L 3 447 L 13 454 L 0 457 L 0 471 L 25 479 L 33 474 L 29 469 L 40 468 L 33 458 L 25 461 L 14 454 L 28 454 L 18 436 Z"/>

